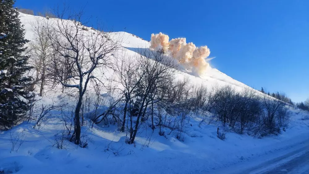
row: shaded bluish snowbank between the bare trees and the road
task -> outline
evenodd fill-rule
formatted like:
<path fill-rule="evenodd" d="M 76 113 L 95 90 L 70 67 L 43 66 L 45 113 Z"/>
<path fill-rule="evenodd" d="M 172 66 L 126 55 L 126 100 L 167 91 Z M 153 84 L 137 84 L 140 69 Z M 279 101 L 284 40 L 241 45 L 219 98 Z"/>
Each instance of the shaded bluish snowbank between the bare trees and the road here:
<path fill-rule="evenodd" d="M 145 128 L 148 130 L 139 135 L 135 147 L 126 144 L 125 133 L 115 131 L 115 127 L 96 126 L 87 130 L 91 139 L 87 149 L 77 148 L 68 141 L 64 142 L 66 149 L 57 149 L 54 137 L 61 126 L 57 122 L 49 121 L 39 131 L 32 128 L 33 124 L 23 123 L 1 134 L 0 170 L 18 173 L 214 173 L 218 170 L 221 173 L 221 170 L 227 172 L 224 168 L 230 166 L 228 169 L 240 171 L 240 167 L 288 154 L 308 141 L 309 121 L 301 120 L 303 114 L 295 114 L 290 128 L 278 137 L 257 139 L 228 133 L 222 141 L 216 137 L 214 125 L 199 127 L 198 121 L 192 120 L 189 136 L 183 142 L 171 135 L 159 136 L 157 131 L 150 137 L 151 129 Z M 24 141 L 17 141 L 11 152 L 12 143 L 18 137 Z"/>

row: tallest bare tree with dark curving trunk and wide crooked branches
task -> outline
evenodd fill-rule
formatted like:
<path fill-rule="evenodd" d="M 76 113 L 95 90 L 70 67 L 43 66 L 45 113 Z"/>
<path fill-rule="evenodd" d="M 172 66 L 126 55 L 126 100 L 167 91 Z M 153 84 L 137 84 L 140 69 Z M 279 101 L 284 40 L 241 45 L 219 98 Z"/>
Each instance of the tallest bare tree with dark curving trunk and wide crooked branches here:
<path fill-rule="evenodd" d="M 100 81 L 94 71 L 112 67 L 111 59 L 119 49 L 120 40 L 111 39 L 108 32 L 83 30 L 83 12 L 72 13 L 67 8 L 56 12 L 56 24 L 51 26 L 54 35 L 49 40 L 58 56 L 53 60 L 57 81 L 64 87 L 76 89 L 78 99 L 74 111 L 75 144 L 80 144 L 80 109 L 83 96 L 91 80 Z M 67 20 L 64 18 L 67 17 Z"/>

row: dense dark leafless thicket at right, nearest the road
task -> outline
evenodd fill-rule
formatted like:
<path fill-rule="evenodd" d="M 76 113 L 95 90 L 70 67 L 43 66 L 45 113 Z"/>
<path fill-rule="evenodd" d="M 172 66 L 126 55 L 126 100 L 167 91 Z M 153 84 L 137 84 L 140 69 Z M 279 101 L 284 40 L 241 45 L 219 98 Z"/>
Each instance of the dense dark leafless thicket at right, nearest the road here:
<path fill-rule="evenodd" d="M 251 89 L 236 91 L 224 86 L 212 96 L 212 111 L 226 131 L 254 134 L 257 137 L 280 133 L 288 125 L 285 103 L 268 95 L 259 97 Z"/>

